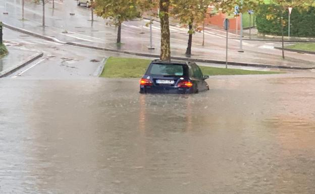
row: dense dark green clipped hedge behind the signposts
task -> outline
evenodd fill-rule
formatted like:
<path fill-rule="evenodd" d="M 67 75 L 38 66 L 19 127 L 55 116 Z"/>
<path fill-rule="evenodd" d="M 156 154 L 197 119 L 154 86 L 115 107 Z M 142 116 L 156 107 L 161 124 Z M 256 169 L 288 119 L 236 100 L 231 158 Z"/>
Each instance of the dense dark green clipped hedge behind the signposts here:
<path fill-rule="evenodd" d="M 260 11 L 256 13 L 256 25 L 259 33 L 270 35 L 281 35 L 281 25 L 279 19 L 267 20 L 267 15 L 272 14 L 269 8 L 275 5 L 260 5 Z M 284 35 L 288 35 L 288 11 L 284 13 L 286 25 Z M 280 18 L 280 13 L 275 18 Z M 300 11 L 294 8 L 291 13 L 291 33 L 290 36 L 296 37 L 315 37 L 315 8 L 308 11 Z"/>

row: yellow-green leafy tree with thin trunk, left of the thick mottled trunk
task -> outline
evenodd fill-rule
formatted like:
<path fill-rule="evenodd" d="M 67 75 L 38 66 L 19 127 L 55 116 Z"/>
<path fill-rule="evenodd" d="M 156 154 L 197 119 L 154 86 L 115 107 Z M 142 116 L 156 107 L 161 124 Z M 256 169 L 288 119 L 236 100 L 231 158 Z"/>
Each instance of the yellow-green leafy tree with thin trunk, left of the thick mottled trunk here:
<path fill-rule="evenodd" d="M 137 0 L 95 0 L 95 14 L 118 27 L 117 43 L 121 43 L 121 25 L 123 22 L 140 16 Z"/>

